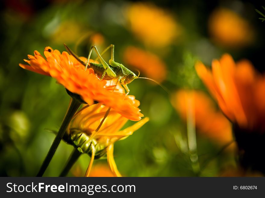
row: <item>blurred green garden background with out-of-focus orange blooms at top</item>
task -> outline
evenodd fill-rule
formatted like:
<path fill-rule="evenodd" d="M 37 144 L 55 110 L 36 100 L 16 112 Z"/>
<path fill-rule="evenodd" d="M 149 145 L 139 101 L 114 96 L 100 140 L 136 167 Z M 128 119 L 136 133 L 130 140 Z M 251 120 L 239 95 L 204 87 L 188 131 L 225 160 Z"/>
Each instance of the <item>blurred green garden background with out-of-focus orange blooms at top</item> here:
<path fill-rule="evenodd" d="M 130 94 L 141 102 L 150 121 L 115 143 L 121 174 L 220 176 L 236 170 L 235 149 L 219 152 L 226 143 L 210 138 L 210 131 L 203 134 L 197 127 L 197 151 L 189 152 L 186 120 L 173 108 L 179 105 L 174 94 L 196 89 L 209 96 L 194 63 L 210 65 L 225 52 L 264 70 L 260 54 L 265 23 L 254 8 L 262 11 L 254 1 L 2 1 L 0 175 L 35 176 L 55 137 L 48 130 L 60 127 L 70 99 L 65 89 L 51 77 L 18 64 L 46 46 L 66 51 L 63 43 L 85 57 L 92 45 L 102 51 L 114 44 L 115 61 L 169 90 L 168 94 L 145 79 L 129 84 Z M 71 151 L 72 146 L 61 142 L 44 176 L 58 176 Z M 88 163 L 89 156 L 82 155 L 68 175 L 83 176 Z M 96 160 L 97 164 L 106 164 L 106 159 Z"/>

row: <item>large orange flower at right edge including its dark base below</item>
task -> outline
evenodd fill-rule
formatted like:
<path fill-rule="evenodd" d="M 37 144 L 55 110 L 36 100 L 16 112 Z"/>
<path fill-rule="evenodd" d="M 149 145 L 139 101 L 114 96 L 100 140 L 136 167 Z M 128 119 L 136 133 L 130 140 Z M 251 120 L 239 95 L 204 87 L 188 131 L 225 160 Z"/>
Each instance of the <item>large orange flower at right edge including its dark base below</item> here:
<path fill-rule="evenodd" d="M 233 122 L 233 132 L 239 148 L 239 162 L 245 170 L 265 174 L 265 77 L 253 65 L 237 63 L 225 54 L 213 60 L 212 71 L 198 62 L 196 70 L 224 114 Z"/>

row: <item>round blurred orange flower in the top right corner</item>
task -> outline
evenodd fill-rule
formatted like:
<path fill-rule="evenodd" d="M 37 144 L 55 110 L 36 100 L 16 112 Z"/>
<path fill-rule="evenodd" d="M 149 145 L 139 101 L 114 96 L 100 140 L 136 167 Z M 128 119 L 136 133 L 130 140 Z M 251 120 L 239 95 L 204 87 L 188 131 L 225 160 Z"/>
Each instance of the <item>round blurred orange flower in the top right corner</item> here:
<path fill-rule="evenodd" d="M 208 25 L 214 41 L 222 46 L 243 47 L 254 40 L 254 30 L 248 21 L 227 8 L 215 10 Z"/>

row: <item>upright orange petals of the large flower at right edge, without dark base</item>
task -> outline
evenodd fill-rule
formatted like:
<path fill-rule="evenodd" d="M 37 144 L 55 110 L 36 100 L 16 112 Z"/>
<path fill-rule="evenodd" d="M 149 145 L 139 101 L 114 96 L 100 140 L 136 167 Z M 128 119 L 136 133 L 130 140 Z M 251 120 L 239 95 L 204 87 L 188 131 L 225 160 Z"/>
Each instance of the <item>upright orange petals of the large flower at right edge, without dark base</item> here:
<path fill-rule="evenodd" d="M 242 60 L 237 63 L 224 54 L 213 60 L 212 71 L 204 64 L 195 65 L 199 77 L 217 99 L 224 114 L 241 128 L 265 130 L 265 77 L 253 65 Z"/>

